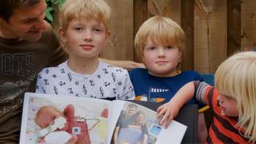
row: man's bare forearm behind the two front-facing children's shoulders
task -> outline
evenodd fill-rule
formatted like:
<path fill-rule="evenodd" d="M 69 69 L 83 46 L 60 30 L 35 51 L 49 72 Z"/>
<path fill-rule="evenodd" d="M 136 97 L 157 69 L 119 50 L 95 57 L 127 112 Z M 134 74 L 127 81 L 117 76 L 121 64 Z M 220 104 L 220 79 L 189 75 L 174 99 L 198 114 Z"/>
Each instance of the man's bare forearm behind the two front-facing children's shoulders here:
<path fill-rule="evenodd" d="M 102 62 L 106 62 L 113 66 L 122 67 L 126 70 L 132 70 L 134 68 L 146 68 L 146 66 L 142 63 L 133 62 L 133 61 L 117 61 L 117 60 L 110 60 L 106 58 L 100 58 Z"/>

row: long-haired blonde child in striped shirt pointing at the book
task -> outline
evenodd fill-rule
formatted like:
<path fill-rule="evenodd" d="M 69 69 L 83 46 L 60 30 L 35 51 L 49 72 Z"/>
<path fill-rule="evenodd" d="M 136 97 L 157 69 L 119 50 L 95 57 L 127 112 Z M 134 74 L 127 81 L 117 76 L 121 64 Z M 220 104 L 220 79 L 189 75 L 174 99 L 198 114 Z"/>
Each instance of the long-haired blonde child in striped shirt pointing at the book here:
<path fill-rule="evenodd" d="M 174 98 L 158 107 L 161 124 L 167 127 L 184 103 L 193 98 L 209 105 L 214 118 L 208 143 L 256 142 L 256 52 L 234 54 L 218 67 L 215 87 L 189 82 Z"/>

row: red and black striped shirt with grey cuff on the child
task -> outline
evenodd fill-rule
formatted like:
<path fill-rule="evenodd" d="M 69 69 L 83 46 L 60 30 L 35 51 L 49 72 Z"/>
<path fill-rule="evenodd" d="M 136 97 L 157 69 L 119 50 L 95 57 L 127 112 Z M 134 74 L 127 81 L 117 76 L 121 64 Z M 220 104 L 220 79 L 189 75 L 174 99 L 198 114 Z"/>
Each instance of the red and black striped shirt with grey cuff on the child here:
<path fill-rule="evenodd" d="M 214 118 L 210 126 L 207 143 L 249 143 L 248 138 L 242 136 L 243 131 L 238 130 L 238 117 L 222 115 L 218 103 L 219 90 L 206 82 L 196 82 L 196 98 L 199 102 L 209 105 L 213 109 Z"/>

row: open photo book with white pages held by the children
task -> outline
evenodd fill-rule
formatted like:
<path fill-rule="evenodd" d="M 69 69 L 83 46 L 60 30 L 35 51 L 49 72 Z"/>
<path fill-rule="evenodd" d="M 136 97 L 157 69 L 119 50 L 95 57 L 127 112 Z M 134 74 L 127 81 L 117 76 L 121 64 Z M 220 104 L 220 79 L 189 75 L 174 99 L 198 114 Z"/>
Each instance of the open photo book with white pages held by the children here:
<path fill-rule="evenodd" d="M 164 129 L 156 115 L 129 101 L 26 93 L 20 143 L 181 143 L 187 126 Z"/>

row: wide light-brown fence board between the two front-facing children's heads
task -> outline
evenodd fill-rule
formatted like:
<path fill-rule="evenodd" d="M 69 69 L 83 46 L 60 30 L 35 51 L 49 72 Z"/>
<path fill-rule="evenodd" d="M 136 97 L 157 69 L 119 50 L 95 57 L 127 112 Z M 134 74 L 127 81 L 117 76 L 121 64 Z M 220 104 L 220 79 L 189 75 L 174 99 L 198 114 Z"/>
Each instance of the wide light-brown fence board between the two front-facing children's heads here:
<path fill-rule="evenodd" d="M 108 0 L 112 10 L 110 42 L 101 57 L 115 60 L 134 60 L 133 1 Z"/>

